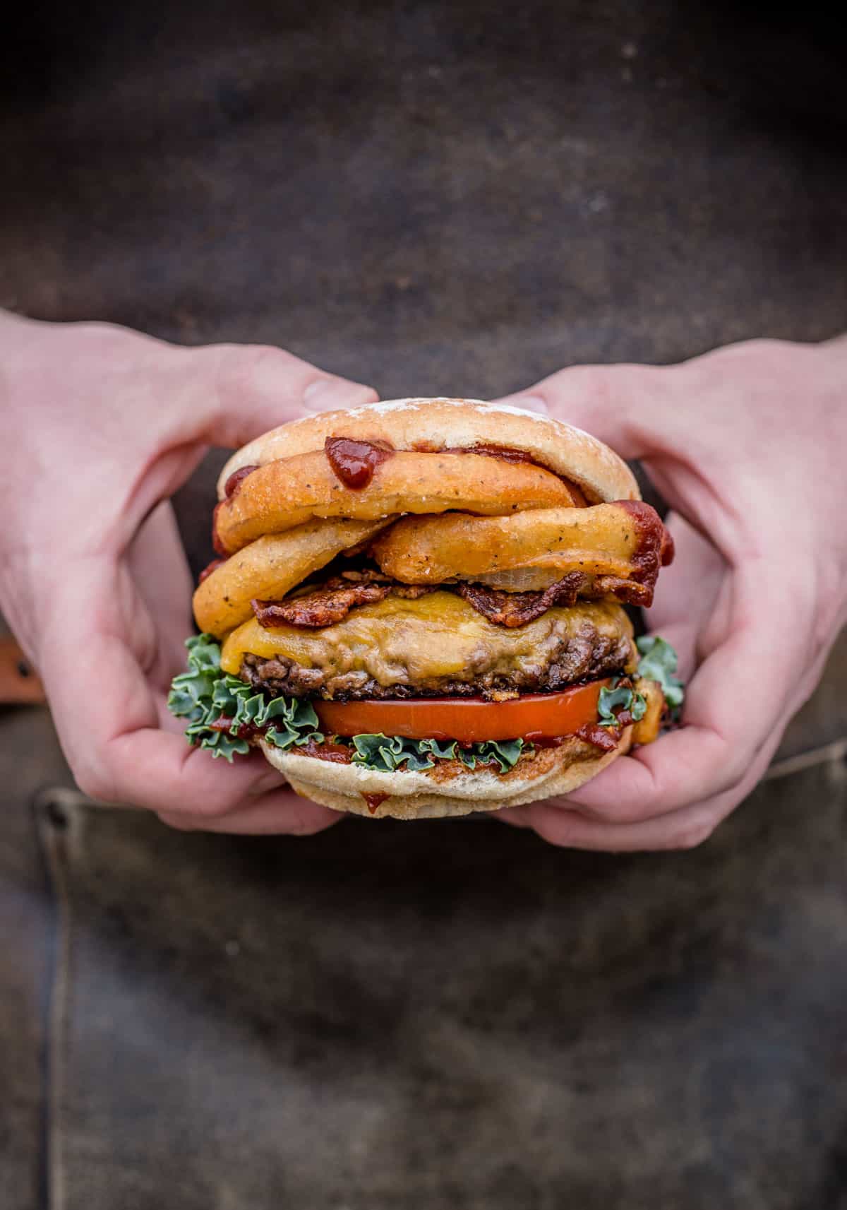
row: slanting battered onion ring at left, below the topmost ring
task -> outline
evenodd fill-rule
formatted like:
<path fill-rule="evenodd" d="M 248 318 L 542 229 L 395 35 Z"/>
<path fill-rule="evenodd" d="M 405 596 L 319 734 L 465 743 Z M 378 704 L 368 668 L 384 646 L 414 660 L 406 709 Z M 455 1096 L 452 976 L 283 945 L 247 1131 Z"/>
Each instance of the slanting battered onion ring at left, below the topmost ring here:
<path fill-rule="evenodd" d="M 201 630 L 224 638 L 253 617 L 254 597 L 278 600 L 342 551 L 377 534 L 379 522 L 312 520 L 285 534 L 271 534 L 245 546 L 203 580 L 195 593 Z"/>

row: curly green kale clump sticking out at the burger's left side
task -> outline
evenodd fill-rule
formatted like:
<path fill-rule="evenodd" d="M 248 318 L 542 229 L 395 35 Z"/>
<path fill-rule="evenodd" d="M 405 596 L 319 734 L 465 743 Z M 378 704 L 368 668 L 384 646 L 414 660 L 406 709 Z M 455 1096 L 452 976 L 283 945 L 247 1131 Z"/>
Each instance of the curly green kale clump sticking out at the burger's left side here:
<path fill-rule="evenodd" d="M 309 739 L 323 739 L 317 730 L 318 715 L 308 702 L 298 698 L 266 698 L 238 676 L 221 672 L 221 649 L 210 634 L 186 639 L 188 672 L 174 676 L 168 695 L 168 709 L 187 719 L 186 736 L 192 744 L 208 748 L 213 756 L 232 757 L 248 753 L 250 744 L 238 734 L 243 724 L 267 728 L 265 738 L 274 748 L 288 749 Z M 231 720 L 228 728 L 213 728 L 213 722 Z M 268 724 L 273 724 L 268 726 Z"/>

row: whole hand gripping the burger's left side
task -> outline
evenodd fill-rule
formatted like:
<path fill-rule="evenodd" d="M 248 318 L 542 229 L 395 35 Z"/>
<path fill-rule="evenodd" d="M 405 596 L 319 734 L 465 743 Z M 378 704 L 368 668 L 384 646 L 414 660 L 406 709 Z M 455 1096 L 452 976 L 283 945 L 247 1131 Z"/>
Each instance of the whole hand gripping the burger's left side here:
<path fill-rule="evenodd" d="M 311 832 L 340 816 L 259 755 L 191 749 L 166 710 L 192 633 L 168 499 L 209 445 L 376 398 L 278 348 L 184 348 L 0 312 L 0 609 L 41 674 L 92 797 L 182 828 Z"/>

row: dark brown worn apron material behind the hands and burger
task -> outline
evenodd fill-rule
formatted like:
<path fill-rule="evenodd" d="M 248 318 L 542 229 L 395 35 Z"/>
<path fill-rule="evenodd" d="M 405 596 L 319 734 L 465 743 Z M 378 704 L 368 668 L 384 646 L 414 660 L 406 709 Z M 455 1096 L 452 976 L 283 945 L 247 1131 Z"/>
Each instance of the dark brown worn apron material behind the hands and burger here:
<path fill-rule="evenodd" d="M 279 344 L 383 397 L 819 340 L 847 328 L 837 29 L 17 6 L 0 305 Z M 176 501 L 195 567 L 220 461 Z M 842 641 L 768 779 L 669 855 L 491 819 L 170 832 L 79 795 L 43 707 L 0 709 L 4 1210 L 842 1210 L 845 674 Z"/>

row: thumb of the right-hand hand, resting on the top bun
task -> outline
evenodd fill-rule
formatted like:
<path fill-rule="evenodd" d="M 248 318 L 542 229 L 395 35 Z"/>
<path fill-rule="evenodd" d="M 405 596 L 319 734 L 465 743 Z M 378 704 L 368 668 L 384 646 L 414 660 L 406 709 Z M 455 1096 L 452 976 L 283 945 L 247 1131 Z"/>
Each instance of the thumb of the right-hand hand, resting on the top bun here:
<path fill-rule="evenodd" d="M 667 450 L 668 375 L 662 365 L 572 365 L 499 402 L 584 428 L 632 461 Z"/>

